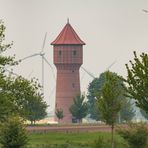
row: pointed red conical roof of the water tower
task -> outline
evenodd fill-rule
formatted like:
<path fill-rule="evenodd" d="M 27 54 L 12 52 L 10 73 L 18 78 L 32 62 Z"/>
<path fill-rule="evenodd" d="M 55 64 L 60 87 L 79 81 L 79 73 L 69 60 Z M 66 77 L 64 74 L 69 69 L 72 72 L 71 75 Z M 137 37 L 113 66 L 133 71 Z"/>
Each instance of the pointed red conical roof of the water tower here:
<path fill-rule="evenodd" d="M 69 22 L 65 25 L 58 37 L 51 43 L 51 45 L 63 44 L 85 45 Z"/>

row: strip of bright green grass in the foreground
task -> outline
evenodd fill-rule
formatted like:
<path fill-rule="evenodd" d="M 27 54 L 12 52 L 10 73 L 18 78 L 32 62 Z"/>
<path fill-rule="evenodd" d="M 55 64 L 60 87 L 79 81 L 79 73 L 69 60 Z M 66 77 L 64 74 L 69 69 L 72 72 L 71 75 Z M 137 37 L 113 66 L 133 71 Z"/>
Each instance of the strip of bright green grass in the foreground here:
<path fill-rule="evenodd" d="M 102 137 L 107 143 L 110 141 L 110 133 L 94 132 L 94 133 L 43 133 L 43 134 L 30 134 L 30 146 L 47 147 L 66 147 L 66 148 L 92 148 L 94 141 L 98 141 Z M 118 148 L 125 148 L 124 140 L 115 135 L 116 144 Z M 99 141 L 101 142 L 101 141 Z"/>

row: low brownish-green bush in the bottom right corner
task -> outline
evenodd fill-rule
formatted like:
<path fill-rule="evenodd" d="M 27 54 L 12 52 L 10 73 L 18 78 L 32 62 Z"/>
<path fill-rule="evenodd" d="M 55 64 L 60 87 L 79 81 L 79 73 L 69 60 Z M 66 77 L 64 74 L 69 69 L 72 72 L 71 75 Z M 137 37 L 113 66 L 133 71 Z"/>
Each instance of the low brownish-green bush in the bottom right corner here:
<path fill-rule="evenodd" d="M 129 124 L 129 128 L 118 129 L 117 132 L 132 148 L 146 147 L 148 129 L 144 124 Z"/>

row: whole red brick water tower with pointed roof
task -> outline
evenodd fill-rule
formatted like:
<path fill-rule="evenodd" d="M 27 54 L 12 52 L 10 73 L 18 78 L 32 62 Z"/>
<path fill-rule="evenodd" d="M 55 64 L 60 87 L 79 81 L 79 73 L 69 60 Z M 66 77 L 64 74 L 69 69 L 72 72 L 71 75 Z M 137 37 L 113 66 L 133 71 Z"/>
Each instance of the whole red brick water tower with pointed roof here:
<path fill-rule="evenodd" d="M 76 34 L 69 21 L 51 43 L 54 48 L 54 64 L 57 68 L 56 109 L 63 109 L 63 123 L 71 123 L 69 111 L 73 98 L 80 93 L 79 69 L 83 63 L 85 43 Z"/>

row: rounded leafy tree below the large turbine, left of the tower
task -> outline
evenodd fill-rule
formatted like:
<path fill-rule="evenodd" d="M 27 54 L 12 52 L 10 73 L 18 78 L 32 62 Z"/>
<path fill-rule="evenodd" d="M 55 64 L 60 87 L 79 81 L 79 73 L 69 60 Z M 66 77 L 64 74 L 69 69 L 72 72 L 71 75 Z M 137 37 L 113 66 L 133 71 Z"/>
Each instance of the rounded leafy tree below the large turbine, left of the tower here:
<path fill-rule="evenodd" d="M 29 81 L 20 76 L 14 80 L 12 78 L 7 80 L 7 83 L 5 91 L 9 91 L 13 96 L 12 101 L 21 117 L 35 123 L 47 115 L 48 105 L 43 101 L 40 86 L 36 80 Z"/>

